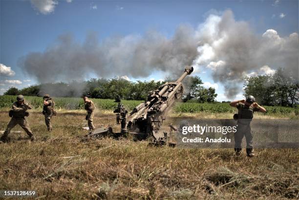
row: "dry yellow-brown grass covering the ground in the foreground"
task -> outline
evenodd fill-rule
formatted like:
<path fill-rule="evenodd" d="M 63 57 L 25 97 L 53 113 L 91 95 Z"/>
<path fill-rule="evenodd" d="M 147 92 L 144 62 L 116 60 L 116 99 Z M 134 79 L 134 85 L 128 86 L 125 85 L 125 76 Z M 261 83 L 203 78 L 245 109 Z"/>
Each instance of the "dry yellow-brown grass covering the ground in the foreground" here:
<path fill-rule="evenodd" d="M 95 125 L 115 127 L 114 116 L 99 111 Z M 0 119 L 4 130 L 6 111 Z M 258 149 L 256 157 L 247 158 L 235 157 L 231 149 L 156 148 L 146 141 L 111 138 L 83 141 L 87 124 L 82 111 L 60 111 L 53 117 L 52 133 L 40 112 L 32 112 L 28 122 L 36 142 L 22 132 L 0 144 L 1 189 L 36 190 L 40 199 L 299 198 L 297 149 Z"/>

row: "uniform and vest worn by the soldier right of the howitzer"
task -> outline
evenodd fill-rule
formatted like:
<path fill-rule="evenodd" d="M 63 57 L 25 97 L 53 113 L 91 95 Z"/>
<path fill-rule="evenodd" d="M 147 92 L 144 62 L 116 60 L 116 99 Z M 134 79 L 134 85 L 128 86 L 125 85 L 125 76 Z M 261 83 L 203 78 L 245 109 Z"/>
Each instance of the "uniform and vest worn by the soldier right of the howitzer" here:
<path fill-rule="evenodd" d="M 236 108 L 238 109 L 238 122 L 237 131 L 235 132 L 235 152 L 240 152 L 242 150 L 241 143 L 245 135 L 246 139 L 246 153 L 247 155 L 252 153 L 253 150 L 253 133 L 251 131 L 251 120 L 253 118 L 253 113 L 259 111 L 259 109 L 254 108 L 252 105 L 247 107 L 244 103 L 237 103 Z"/>

